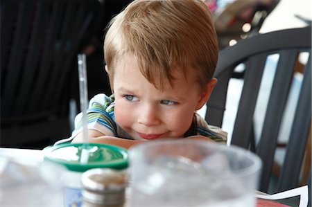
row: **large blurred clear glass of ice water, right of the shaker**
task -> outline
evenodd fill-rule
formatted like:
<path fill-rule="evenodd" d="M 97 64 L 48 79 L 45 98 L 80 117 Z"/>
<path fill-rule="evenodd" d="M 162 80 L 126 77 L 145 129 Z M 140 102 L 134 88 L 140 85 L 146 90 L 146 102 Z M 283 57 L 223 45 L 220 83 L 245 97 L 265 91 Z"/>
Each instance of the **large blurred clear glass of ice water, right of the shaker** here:
<path fill-rule="evenodd" d="M 130 206 L 255 206 L 261 160 L 239 147 L 150 141 L 129 151 Z"/>

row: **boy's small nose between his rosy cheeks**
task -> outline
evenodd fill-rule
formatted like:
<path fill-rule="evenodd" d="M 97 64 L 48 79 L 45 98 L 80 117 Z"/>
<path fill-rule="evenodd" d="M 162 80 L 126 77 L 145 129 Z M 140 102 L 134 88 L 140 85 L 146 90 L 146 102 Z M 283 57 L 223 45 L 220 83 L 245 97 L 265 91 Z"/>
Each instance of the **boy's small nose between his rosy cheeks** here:
<path fill-rule="evenodd" d="M 155 107 L 146 106 L 141 111 L 138 122 L 147 127 L 159 124 L 158 112 Z"/>

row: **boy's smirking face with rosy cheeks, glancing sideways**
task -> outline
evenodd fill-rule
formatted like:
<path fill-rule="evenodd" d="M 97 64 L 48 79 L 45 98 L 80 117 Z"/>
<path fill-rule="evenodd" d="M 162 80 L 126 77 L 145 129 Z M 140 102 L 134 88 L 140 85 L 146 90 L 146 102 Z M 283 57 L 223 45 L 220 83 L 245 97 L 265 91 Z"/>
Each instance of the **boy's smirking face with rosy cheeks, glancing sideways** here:
<path fill-rule="evenodd" d="M 206 93 L 200 93 L 191 74 L 188 82 L 182 73 L 173 75 L 177 78 L 173 87 L 165 82 L 160 91 L 141 74 L 135 57 L 119 59 L 114 71 L 114 114 L 132 138 L 181 138 L 191 126 L 194 111 L 207 101 Z"/>

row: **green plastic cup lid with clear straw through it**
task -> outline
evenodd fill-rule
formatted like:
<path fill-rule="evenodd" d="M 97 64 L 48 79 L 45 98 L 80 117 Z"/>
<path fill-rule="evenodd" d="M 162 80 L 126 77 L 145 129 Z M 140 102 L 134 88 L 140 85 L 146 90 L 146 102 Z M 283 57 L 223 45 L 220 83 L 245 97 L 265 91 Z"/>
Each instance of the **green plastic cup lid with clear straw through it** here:
<path fill-rule="evenodd" d="M 92 168 L 113 168 L 123 170 L 128 167 L 128 151 L 122 147 L 101 143 L 66 143 L 46 147 L 44 160 L 60 163 L 67 169 L 85 172 Z M 86 161 L 81 161 L 87 152 Z"/>

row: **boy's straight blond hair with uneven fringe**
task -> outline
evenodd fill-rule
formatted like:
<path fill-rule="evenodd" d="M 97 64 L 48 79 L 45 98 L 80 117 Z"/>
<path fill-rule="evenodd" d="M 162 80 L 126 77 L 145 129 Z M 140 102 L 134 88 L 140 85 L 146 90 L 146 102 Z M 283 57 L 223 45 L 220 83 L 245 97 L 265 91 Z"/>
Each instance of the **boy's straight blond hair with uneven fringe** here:
<path fill-rule="evenodd" d="M 165 78 L 172 85 L 173 70 L 182 70 L 185 78 L 195 73 L 200 89 L 214 74 L 216 31 L 200 0 L 132 1 L 107 28 L 104 55 L 111 86 L 116 61 L 125 54 L 135 55 L 144 77 L 161 89 Z"/>

